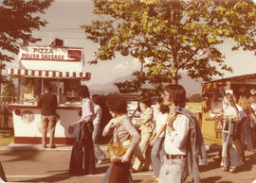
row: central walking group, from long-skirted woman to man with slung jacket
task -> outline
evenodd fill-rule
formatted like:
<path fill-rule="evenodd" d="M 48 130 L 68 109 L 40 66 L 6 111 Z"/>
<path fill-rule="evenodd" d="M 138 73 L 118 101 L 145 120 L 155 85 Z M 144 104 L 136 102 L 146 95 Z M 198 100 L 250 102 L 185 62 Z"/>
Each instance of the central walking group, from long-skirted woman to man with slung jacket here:
<path fill-rule="evenodd" d="M 102 152 L 98 139 L 112 136 L 113 142 L 130 140 L 129 148 L 112 161 L 102 183 L 133 182 L 131 173 L 153 170 L 158 182 L 184 182 L 189 175 L 193 182 L 200 182 L 198 165 L 207 164 L 205 144 L 196 118 L 185 108 L 186 91 L 181 85 L 171 84 L 161 91 L 153 105 L 152 98 L 139 100 L 139 126 L 132 123 L 127 101 L 118 93 L 106 97 L 106 107 L 112 119 L 101 133 L 101 107 L 99 95 L 82 90 L 82 119 L 71 126 L 83 125 L 83 175 L 93 175 L 96 163 L 107 156 Z M 86 159 L 85 159 L 86 158 Z"/>

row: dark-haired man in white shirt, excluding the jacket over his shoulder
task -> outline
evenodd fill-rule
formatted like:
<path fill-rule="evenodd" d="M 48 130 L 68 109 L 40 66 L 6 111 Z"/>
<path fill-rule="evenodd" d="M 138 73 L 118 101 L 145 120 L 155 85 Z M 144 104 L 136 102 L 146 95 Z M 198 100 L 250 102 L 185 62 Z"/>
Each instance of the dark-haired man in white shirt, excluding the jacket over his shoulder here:
<path fill-rule="evenodd" d="M 169 85 L 162 94 L 163 105 L 169 108 L 165 125 L 165 157 L 160 169 L 159 183 L 182 183 L 187 178 L 187 140 L 190 119 L 177 113 L 175 108 L 184 108 L 186 91 L 181 85 Z"/>

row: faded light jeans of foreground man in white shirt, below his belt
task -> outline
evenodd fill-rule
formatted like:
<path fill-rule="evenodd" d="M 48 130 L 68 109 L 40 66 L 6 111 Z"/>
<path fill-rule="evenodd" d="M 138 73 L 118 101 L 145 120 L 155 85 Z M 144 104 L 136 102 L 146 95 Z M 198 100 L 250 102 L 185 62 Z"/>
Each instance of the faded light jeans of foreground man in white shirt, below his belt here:
<path fill-rule="evenodd" d="M 187 178 L 187 158 L 164 158 L 158 183 L 183 183 Z"/>

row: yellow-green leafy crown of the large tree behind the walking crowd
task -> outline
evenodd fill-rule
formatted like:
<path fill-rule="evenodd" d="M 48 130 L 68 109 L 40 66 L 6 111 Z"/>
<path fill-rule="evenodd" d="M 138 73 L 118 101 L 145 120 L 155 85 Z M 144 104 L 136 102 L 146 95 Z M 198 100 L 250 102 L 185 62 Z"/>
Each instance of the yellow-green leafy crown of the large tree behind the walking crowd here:
<path fill-rule="evenodd" d="M 232 50 L 256 54 L 256 6 L 249 0 L 94 0 L 93 12 L 100 18 L 82 25 L 87 39 L 100 44 L 90 63 L 117 52 L 141 63 L 133 80 L 116 84 L 120 91 L 149 85 L 156 91 L 177 83 L 179 72 L 204 81 L 232 72 L 217 47 L 229 39 L 236 42 Z"/>

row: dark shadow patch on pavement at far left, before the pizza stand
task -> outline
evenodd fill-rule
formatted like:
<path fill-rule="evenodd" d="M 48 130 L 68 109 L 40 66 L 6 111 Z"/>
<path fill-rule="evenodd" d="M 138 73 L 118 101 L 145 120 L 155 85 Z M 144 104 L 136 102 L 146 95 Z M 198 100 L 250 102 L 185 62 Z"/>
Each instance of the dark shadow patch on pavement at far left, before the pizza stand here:
<path fill-rule="evenodd" d="M 11 162 L 11 161 L 19 161 L 19 160 L 24 161 L 27 159 L 33 159 L 33 158 L 36 158 L 37 155 L 40 153 L 38 149 L 31 146 L 27 146 L 23 148 L 24 149 L 21 151 L 21 150 L 17 150 L 17 149 L 20 149 L 20 147 L 11 147 L 10 150 L 6 151 L 5 153 L 1 153 L 1 155 L 6 157 L 12 157 L 11 159 L 5 160 L 6 162 Z M 32 153 L 27 153 L 27 151 L 32 151 Z"/>

